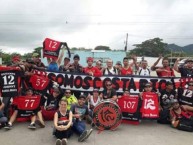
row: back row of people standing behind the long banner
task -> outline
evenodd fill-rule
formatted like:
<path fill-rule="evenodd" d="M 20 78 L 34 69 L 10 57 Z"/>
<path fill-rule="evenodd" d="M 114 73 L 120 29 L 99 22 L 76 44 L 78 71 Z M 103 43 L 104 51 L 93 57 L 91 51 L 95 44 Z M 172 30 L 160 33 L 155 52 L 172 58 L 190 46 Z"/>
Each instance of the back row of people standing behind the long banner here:
<path fill-rule="evenodd" d="M 63 56 L 62 56 L 63 57 Z M 100 77 L 102 75 L 140 75 L 140 76 L 151 76 L 151 71 L 156 71 L 158 77 L 175 77 L 174 70 L 181 74 L 182 77 L 192 77 L 193 73 L 193 60 L 187 59 L 185 65 L 178 66 L 179 58 L 176 60 L 174 67 L 170 67 L 170 62 L 168 58 L 163 58 L 161 55 L 158 60 L 151 66 L 148 66 L 147 60 L 143 59 L 140 63 L 137 62 L 135 56 L 131 57 L 133 62 L 129 63 L 129 58 L 124 57 L 123 62 L 117 61 L 113 65 L 113 60 L 108 59 L 106 61 L 106 66 L 103 66 L 101 60 L 97 60 L 94 65 L 94 59 L 92 57 L 87 58 L 87 66 L 83 67 L 79 61 L 80 56 L 78 54 L 74 55 L 73 62 L 70 62 L 70 58 L 64 58 L 64 64 L 61 65 L 61 57 L 55 62 L 55 66 L 52 69 L 49 67 L 53 65 L 49 63 L 48 71 L 56 72 L 75 72 L 75 73 L 85 73 L 90 76 Z M 157 66 L 159 61 L 162 59 L 162 66 Z"/>

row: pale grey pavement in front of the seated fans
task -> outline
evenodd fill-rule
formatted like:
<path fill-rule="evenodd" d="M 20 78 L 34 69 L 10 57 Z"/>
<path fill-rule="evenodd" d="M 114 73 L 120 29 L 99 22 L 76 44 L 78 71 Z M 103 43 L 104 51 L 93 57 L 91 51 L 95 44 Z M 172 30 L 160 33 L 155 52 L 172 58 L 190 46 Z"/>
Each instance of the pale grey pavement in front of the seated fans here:
<path fill-rule="evenodd" d="M 28 123 L 16 123 L 10 131 L 0 130 L 0 145 L 54 145 L 51 135 L 52 122 L 46 122 L 46 128 L 35 131 L 27 128 Z M 193 145 L 193 133 L 178 131 L 168 125 L 155 121 L 143 121 L 140 125 L 122 124 L 115 131 L 98 134 L 94 130 L 90 138 L 77 142 L 77 136 L 69 139 L 70 145 Z"/>

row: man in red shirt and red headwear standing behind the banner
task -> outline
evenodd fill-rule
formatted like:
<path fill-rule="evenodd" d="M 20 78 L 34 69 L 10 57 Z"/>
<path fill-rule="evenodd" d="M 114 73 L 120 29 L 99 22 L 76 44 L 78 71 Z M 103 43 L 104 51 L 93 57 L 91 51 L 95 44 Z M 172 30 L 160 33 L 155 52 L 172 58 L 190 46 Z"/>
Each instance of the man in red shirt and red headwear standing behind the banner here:
<path fill-rule="evenodd" d="M 94 76 L 94 77 L 100 77 L 102 75 L 101 71 L 93 66 L 93 58 L 88 57 L 87 58 L 87 64 L 88 66 L 83 69 L 83 72 L 87 75 Z"/>

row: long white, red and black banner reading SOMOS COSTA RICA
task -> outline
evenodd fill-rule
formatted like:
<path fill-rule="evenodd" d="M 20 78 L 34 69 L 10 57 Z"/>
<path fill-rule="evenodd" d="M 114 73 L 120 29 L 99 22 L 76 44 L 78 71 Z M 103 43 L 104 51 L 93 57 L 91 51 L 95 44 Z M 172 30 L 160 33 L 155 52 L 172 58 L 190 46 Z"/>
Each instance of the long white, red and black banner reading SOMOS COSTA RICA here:
<path fill-rule="evenodd" d="M 121 76 L 121 75 L 106 75 L 101 77 L 92 77 L 85 74 L 71 73 L 55 73 L 47 72 L 48 78 L 56 81 L 61 88 L 69 88 L 75 91 L 92 91 L 93 88 L 98 88 L 103 91 L 106 81 L 112 81 L 113 88 L 117 92 L 123 92 L 123 88 L 127 88 L 131 93 L 139 93 L 143 91 L 144 85 L 151 82 L 153 90 L 165 89 L 166 82 L 173 82 L 174 89 L 182 86 L 193 78 L 181 79 L 179 77 L 152 77 L 152 76 Z"/>

